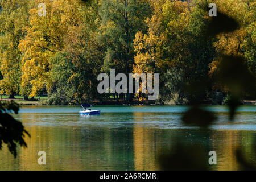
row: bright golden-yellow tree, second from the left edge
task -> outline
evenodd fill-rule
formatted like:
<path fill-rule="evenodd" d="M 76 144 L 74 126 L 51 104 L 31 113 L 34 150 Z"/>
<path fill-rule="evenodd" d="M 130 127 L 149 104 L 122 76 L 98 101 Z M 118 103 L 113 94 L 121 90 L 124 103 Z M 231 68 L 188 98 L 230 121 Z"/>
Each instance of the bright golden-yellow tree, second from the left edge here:
<path fill-rule="evenodd" d="M 77 25 L 80 6 L 78 1 L 46 0 L 46 16 L 39 16 L 40 2 L 35 0 L 36 7 L 29 11 L 30 22 L 24 27 L 27 35 L 19 44 L 19 49 L 24 54 L 21 86 L 25 88 L 20 93 L 30 96 L 36 96 L 43 88 L 51 88 L 50 60 L 57 51 L 64 48 L 69 27 Z"/>

